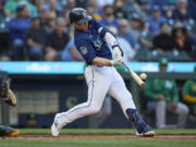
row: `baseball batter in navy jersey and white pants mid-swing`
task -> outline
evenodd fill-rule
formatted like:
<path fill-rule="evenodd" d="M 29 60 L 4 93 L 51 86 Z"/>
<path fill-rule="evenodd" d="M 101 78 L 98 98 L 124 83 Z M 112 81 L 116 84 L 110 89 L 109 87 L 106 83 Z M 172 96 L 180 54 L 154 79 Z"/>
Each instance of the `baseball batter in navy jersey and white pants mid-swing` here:
<path fill-rule="evenodd" d="M 125 117 L 134 123 L 137 130 L 136 135 L 155 136 L 155 132 L 138 113 L 123 78 L 113 68 L 113 65 L 122 64 L 123 56 L 115 37 L 87 15 L 84 9 L 71 10 L 70 21 L 75 28 L 74 44 L 87 63 L 85 78 L 88 85 L 88 99 L 87 102 L 75 106 L 66 112 L 57 113 L 51 134 L 58 136 L 66 124 L 78 118 L 99 112 L 108 93 L 121 105 Z"/>

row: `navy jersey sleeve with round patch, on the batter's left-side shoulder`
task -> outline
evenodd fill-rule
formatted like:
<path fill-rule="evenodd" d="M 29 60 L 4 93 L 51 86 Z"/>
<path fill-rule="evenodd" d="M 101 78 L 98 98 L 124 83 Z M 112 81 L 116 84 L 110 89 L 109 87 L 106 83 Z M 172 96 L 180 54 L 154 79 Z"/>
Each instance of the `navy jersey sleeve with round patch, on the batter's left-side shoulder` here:
<path fill-rule="evenodd" d="M 81 52 L 87 64 L 91 64 L 96 58 L 96 52 L 88 40 L 75 41 L 77 50 Z"/>

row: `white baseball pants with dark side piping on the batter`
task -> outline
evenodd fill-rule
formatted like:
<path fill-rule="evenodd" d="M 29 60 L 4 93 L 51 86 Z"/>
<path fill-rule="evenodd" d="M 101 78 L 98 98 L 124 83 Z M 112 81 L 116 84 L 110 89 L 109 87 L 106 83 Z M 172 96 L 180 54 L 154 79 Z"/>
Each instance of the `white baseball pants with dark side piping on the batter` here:
<path fill-rule="evenodd" d="M 99 112 L 107 93 L 121 105 L 125 117 L 127 117 L 126 109 L 136 109 L 131 93 L 113 66 L 88 65 L 85 70 L 85 78 L 88 85 L 87 102 L 58 113 L 56 121 L 62 127 L 78 118 Z"/>

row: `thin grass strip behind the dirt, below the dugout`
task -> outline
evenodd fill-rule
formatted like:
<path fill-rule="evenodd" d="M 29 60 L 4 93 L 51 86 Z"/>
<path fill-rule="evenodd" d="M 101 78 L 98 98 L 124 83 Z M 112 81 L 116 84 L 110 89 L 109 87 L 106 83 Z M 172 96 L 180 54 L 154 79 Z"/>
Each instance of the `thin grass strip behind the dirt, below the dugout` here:
<path fill-rule="evenodd" d="M 196 130 L 155 130 L 157 134 L 164 134 L 164 135 L 170 135 L 170 134 L 179 134 L 179 135 L 184 135 L 184 134 L 189 134 L 189 135 L 196 135 Z M 20 130 L 20 134 L 23 135 L 30 135 L 30 134 L 37 134 L 37 135 L 46 135 L 50 134 L 50 130 L 48 128 L 23 128 Z M 81 135 L 96 135 L 96 134 L 106 134 L 106 135 L 111 135 L 111 134 L 123 134 L 123 135 L 128 135 L 128 134 L 135 134 L 135 130 L 130 130 L 130 128 L 115 128 L 115 130 L 90 130 L 90 128 L 79 128 L 79 130 L 68 130 L 64 128 L 61 131 L 61 134 L 68 134 L 68 135 L 74 135 L 74 134 L 81 134 Z"/>

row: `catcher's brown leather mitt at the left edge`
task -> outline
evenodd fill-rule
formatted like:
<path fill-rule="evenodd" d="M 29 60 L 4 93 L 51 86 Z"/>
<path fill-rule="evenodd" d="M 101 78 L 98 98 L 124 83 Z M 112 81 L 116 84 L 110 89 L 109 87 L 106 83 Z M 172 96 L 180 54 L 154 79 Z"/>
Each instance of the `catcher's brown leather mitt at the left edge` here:
<path fill-rule="evenodd" d="M 16 105 L 16 97 L 14 93 L 10 89 L 10 84 L 9 83 L 3 83 L 0 86 L 0 99 L 5 101 L 7 103 L 11 106 Z"/>

